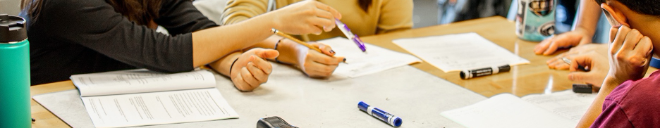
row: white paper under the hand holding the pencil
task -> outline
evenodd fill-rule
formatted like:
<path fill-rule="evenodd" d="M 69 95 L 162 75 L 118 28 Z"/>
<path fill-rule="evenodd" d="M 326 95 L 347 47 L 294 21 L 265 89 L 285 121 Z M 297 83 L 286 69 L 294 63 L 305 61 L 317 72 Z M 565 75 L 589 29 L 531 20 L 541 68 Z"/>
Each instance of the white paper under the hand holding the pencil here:
<path fill-rule="evenodd" d="M 340 63 L 334 74 L 345 77 L 360 77 L 391 68 L 419 63 L 421 60 L 415 56 L 383 49 L 379 46 L 365 44 L 366 52 L 362 52 L 357 45 L 348 39 L 335 37 L 319 41 L 328 44 L 336 51 L 335 56 L 346 57 L 346 63 Z"/>

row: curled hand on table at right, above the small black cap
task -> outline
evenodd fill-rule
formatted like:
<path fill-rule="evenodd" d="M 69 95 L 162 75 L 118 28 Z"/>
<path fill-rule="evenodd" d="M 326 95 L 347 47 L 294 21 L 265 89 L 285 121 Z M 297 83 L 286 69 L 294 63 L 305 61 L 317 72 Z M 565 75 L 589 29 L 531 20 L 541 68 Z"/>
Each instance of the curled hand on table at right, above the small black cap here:
<path fill-rule="evenodd" d="M 609 71 L 607 56 L 596 51 L 589 51 L 575 55 L 572 58 L 573 59 L 570 61 L 570 73 L 568 73 L 568 79 L 574 82 L 592 84 L 594 87 L 601 87 L 603 80 Z M 589 69 L 589 71 L 578 70 L 578 65 Z"/>

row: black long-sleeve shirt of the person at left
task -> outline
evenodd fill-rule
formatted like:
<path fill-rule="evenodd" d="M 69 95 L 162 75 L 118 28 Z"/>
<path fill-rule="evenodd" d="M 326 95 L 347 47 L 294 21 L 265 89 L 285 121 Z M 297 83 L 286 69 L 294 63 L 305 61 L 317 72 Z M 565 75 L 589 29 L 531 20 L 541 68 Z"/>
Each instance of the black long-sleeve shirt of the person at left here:
<path fill-rule="evenodd" d="M 129 21 L 104 0 L 42 4 L 36 19 L 27 18 L 32 85 L 132 68 L 193 70 L 192 32 L 217 26 L 188 0 L 162 1 L 154 22 L 171 36 Z"/>

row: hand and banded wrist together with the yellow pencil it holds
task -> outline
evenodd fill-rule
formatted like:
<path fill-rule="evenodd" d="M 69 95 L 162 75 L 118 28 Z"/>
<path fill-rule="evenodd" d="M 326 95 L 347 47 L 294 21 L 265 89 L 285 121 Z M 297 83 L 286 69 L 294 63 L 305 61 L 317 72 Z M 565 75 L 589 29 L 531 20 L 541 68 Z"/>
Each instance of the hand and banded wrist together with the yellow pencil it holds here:
<path fill-rule="evenodd" d="M 295 39 L 288 34 L 279 32 L 278 30 L 272 31 L 281 37 L 285 37 L 280 39 L 280 43 L 276 44 L 276 49 L 278 51 L 283 51 L 281 52 L 283 54 L 295 54 L 293 55 L 295 58 L 285 58 L 284 56 L 287 55 L 282 55 L 283 58 L 279 58 L 279 61 L 296 65 L 309 77 L 329 77 L 332 75 L 332 72 L 334 72 L 339 63 L 346 61 L 346 58 L 334 56 L 336 53 L 330 46 L 321 43 L 307 44 L 304 41 Z"/>

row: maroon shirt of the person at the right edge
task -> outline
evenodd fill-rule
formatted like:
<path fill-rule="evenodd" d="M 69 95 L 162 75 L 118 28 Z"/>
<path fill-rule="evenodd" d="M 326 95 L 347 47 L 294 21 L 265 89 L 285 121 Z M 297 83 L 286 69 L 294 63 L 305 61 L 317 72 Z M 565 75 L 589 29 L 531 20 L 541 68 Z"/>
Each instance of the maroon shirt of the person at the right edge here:
<path fill-rule="evenodd" d="M 660 127 L 660 71 L 616 87 L 591 127 Z"/>

